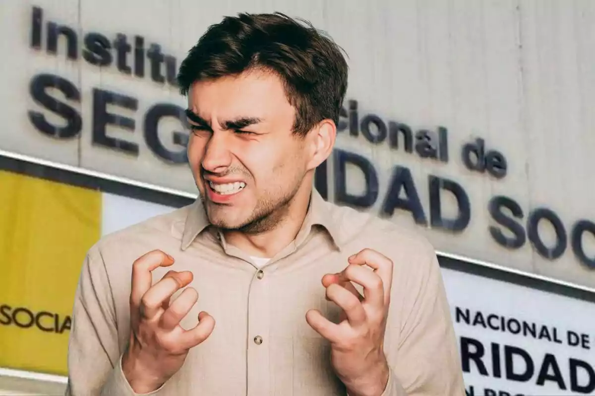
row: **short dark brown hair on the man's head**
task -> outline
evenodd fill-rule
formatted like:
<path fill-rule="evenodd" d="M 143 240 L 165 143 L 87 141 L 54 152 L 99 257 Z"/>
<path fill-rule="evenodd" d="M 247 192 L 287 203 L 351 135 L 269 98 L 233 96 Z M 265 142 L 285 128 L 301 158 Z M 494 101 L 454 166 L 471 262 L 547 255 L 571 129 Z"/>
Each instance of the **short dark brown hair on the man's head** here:
<path fill-rule="evenodd" d="M 338 125 L 348 72 L 340 47 L 308 21 L 281 12 L 242 13 L 210 26 L 181 62 L 180 93 L 196 81 L 257 68 L 283 81 L 296 109 L 296 134 L 305 135 L 323 119 Z"/>

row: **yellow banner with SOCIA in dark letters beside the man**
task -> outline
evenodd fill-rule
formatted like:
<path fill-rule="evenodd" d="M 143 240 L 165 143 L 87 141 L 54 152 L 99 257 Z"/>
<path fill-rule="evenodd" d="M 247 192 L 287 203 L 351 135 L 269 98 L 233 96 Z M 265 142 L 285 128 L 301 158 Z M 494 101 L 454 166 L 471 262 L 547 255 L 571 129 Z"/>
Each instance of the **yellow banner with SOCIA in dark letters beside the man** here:
<path fill-rule="evenodd" d="M 67 375 L 74 292 L 101 192 L 0 171 L 0 367 Z"/>

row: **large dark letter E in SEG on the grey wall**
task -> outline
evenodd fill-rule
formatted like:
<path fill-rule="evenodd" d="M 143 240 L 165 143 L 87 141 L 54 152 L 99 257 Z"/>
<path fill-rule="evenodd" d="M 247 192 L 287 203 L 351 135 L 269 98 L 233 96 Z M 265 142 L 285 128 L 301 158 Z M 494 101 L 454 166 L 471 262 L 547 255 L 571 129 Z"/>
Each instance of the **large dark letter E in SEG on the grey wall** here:
<path fill-rule="evenodd" d="M 134 120 L 128 117 L 108 113 L 107 105 L 114 104 L 129 110 L 136 110 L 138 101 L 111 91 L 93 88 L 93 144 L 114 148 L 127 154 L 139 154 L 139 146 L 133 142 L 116 139 L 107 135 L 108 124 L 134 131 Z"/>

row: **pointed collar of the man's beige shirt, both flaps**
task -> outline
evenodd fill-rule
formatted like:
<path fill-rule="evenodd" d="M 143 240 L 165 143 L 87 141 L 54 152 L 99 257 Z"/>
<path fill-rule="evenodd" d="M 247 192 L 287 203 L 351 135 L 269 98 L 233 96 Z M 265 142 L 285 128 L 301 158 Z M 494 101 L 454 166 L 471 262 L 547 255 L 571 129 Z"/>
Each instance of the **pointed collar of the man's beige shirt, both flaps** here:
<path fill-rule="evenodd" d="M 308 237 L 313 226 L 322 226 L 327 230 L 337 248 L 340 248 L 341 234 L 340 229 L 337 226 L 339 222 L 333 218 L 331 206 L 330 203 L 324 201 L 316 189 L 312 189 L 310 207 L 308 208 L 308 213 L 306 214 L 302 228 L 297 233 L 295 240 L 296 245 L 300 245 L 306 237 Z M 184 224 L 184 231 L 182 233 L 181 249 L 186 250 L 196 237 L 209 225 L 208 217 L 206 217 L 201 198 L 199 197 L 190 205 L 186 216 L 186 223 Z"/>

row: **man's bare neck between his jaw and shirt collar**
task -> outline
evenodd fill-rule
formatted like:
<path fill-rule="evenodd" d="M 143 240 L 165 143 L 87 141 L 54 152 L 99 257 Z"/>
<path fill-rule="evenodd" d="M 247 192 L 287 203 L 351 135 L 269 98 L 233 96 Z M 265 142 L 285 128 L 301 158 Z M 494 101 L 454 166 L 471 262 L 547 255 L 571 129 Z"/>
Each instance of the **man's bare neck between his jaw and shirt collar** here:
<path fill-rule="evenodd" d="M 297 192 L 287 208 L 286 216 L 273 229 L 253 235 L 240 231 L 227 231 L 224 232 L 226 242 L 250 256 L 272 258 L 286 248 L 302 228 L 312 193 L 311 185 L 307 186 L 304 191 Z"/>

